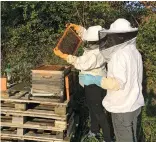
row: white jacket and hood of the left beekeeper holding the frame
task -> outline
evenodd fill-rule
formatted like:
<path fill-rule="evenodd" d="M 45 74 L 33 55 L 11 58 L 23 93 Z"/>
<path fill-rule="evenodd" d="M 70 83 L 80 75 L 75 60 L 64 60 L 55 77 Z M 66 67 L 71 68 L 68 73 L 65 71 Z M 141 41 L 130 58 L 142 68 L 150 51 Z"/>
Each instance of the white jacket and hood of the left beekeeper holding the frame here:
<path fill-rule="evenodd" d="M 88 46 L 84 48 L 84 53 L 80 57 L 69 55 L 67 62 L 74 65 L 80 72 L 80 84 L 83 86 L 82 75 L 102 75 L 106 76 L 105 60 L 99 51 L 99 35 L 102 30 L 101 26 L 91 26 L 82 35 L 83 41 L 88 42 Z"/>

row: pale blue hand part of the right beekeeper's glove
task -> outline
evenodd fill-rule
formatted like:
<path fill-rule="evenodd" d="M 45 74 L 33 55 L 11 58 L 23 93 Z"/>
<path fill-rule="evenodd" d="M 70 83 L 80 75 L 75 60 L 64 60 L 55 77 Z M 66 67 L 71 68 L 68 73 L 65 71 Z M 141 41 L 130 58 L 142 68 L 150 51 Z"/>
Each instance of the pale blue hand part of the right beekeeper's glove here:
<path fill-rule="evenodd" d="M 101 86 L 102 76 L 93 76 L 90 74 L 80 74 L 79 81 L 81 81 L 84 85 L 96 84 Z"/>

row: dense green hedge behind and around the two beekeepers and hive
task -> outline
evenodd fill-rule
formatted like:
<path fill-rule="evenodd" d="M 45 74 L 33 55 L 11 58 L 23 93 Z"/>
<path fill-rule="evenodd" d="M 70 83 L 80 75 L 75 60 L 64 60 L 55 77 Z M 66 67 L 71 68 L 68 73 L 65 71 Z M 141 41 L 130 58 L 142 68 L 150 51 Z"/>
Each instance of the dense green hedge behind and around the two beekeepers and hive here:
<path fill-rule="evenodd" d="M 52 52 L 66 23 L 109 28 L 117 18 L 126 18 L 133 26 L 139 25 L 137 47 L 143 55 L 144 94 L 147 100 L 151 90 L 155 96 L 156 17 L 140 2 L 3 1 L 1 11 L 2 74 L 10 64 L 14 82 L 30 82 L 31 69 L 39 65 L 66 64 Z M 144 20 L 147 16 L 148 20 Z M 155 114 L 155 99 L 152 106 L 150 103 L 144 108 L 142 126 L 147 141 L 152 142 L 156 139 L 156 122 L 151 121 L 155 117 L 151 115 Z"/>

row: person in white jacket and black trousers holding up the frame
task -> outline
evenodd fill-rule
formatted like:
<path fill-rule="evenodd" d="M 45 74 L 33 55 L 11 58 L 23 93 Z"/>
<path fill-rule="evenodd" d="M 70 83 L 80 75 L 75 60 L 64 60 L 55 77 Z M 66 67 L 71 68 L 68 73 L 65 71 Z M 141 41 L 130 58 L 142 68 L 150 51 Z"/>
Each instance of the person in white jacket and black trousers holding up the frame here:
<path fill-rule="evenodd" d="M 102 27 L 99 25 L 91 26 L 85 30 L 81 26 L 74 24 L 72 26 L 81 36 L 82 40 L 87 42 L 83 55 L 77 57 L 63 54 L 57 48 L 54 49 L 54 53 L 57 56 L 65 59 L 68 63 L 74 65 L 76 69 L 81 70 L 79 75 L 79 82 L 82 86 L 84 86 L 85 74 L 106 76 L 105 59 L 99 51 L 98 32 L 102 30 Z M 102 106 L 104 90 L 95 84 L 90 84 L 84 86 L 84 91 L 91 118 L 91 130 L 89 132 L 89 136 L 95 136 L 97 139 L 99 139 L 100 126 L 103 130 L 104 140 L 106 142 L 111 142 L 110 128 L 104 108 Z"/>

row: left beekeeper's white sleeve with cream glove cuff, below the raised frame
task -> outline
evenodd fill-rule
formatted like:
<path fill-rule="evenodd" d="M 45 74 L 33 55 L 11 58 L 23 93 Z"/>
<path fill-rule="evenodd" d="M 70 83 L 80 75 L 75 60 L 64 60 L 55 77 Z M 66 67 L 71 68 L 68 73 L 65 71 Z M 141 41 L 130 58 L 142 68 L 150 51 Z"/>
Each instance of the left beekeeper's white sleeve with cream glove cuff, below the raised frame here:
<path fill-rule="evenodd" d="M 101 67 L 104 64 L 104 59 L 101 54 L 96 55 L 85 54 L 80 57 L 69 55 L 67 57 L 67 62 L 74 65 L 76 69 L 79 70 L 90 70 Z"/>

